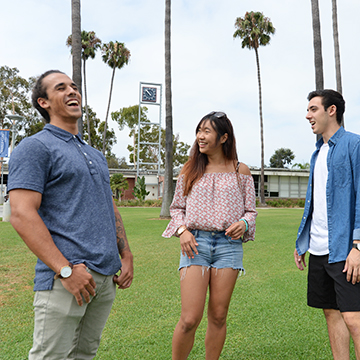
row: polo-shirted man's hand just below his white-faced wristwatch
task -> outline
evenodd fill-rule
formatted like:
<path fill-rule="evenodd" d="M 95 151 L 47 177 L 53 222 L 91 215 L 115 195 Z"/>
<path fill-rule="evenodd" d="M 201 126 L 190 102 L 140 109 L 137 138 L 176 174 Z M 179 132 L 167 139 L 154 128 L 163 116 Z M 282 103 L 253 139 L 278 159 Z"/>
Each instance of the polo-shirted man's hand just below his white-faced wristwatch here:
<path fill-rule="evenodd" d="M 60 280 L 64 288 L 75 296 L 79 306 L 83 304 L 82 296 L 87 303 L 90 302 L 90 295 L 95 296 L 95 280 L 84 264 L 74 265 L 71 276 Z"/>

